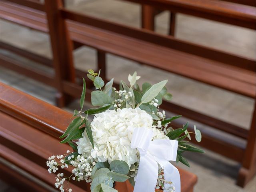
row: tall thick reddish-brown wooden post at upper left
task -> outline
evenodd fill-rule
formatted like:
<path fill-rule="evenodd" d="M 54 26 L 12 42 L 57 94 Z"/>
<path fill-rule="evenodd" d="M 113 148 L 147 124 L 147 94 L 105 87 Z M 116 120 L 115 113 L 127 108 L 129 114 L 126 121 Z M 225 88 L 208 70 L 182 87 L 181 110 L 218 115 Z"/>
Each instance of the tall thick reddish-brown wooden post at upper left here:
<path fill-rule="evenodd" d="M 72 56 L 72 41 L 68 34 L 65 20 L 59 9 L 63 7 L 62 0 L 45 0 L 45 10 L 48 20 L 49 34 L 52 45 L 57 106 L 63 107 L 70 101 L 70 96 L 63 90 L 62 82 L 75 82 L 75 70 Z"/>

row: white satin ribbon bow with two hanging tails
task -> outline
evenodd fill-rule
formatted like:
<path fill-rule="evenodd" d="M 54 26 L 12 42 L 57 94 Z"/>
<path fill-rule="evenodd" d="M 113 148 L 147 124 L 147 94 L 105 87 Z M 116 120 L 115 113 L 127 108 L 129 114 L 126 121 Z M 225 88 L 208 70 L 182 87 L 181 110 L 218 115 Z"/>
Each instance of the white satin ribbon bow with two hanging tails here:
<path fill-rule="evenodd" d="M 158 139 L 152 141 L 153 132 L 147 128 L 136 128 L 131 147 L 140 152 L 140 164 L 133 192 L 154 192 L 158 178 L 158 164 L 164 170 L 164 179 L 171 181 L 175 192 L 180 192 L 180 173 L 169 161 L 176 161 L 178 141 Z M 164 192 L 170 184 L 164 184 Z"/>

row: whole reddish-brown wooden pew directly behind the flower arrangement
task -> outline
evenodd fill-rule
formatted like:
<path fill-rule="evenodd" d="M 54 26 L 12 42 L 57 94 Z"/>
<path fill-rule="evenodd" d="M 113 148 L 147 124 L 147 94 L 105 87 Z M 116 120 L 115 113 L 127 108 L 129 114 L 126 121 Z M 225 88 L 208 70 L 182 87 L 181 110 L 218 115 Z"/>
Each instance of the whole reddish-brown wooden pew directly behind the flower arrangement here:
<path fill-rule="evenodd" d="M 2 2 L 0 5 L 3 5 Z M 65 9 L 60 0 L 45 2 L 44 9 L 47 12 L 56 75 L 49 76 L 39 71 L 35 72 L 34 69 L 26 69 L 23 72 L 55 87 L 58 90 L 58 106 L 64 106 L 70 100 L 70 96 L 80 97 L 82 90 L 82 87 L 75 83 L 72 41 L 98 50 L 98 66 L 102 68 L 103 78 L 106 78 L 105 53 L 111 53 L 255 99 L 255 60 L 162 36 L 148 30 L 78 14 Z M 161 2 L 159 4 L 159 6 L 165 5 Z M 34 10 L 24 7 L 15 8 L 16 12 L 5 10 L 9 19 L 20 19 L 20 22 L 23 19 L 32 22 L 34 20 L 41 23 L 40 25 L 46 24 L 46 17 L 42 12 L 35 14 Z M 28 17 L 30 14 L 33 17 Z M 27 25 L 29 23 L 26 22 Z M 7 68 L 12 66 L 12 70 L 22 73 L 22 70 L 18 70 L 21 68 L 17 68 L 20 63 L 16 60 L 2 56 L 0 64 Z M 90 85 L 88 93 L 91 91 L 89 88 Z M 86 95 L 86 99 L 90 99 L 89 94 Z M 253 126 L 250 130 L 246 130 L 166 101 L 163 102 L 162 107 L 242 138 L 246 144 L 236 144 L 228 139 L 204 133 L 201 145 L 240 162 L 246 171 L 240 172 L 238 183 L 244 186 L 248 182 L 255 173 L 251 164 L 246 163 L 253 161 L 255 139 L 248 139 L 253 132 Z M 182 126 L 182 123 L 176 126 Z M 248 155 L 244 156 L 244 154 Z"/>

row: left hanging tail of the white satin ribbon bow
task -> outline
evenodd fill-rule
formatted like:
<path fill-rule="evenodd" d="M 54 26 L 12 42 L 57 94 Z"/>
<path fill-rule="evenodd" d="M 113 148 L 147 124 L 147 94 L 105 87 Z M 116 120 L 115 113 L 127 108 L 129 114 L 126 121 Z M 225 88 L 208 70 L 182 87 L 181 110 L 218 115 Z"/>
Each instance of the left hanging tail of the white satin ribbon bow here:
<path fill-rule="evenodd" d="M 133 192 L 154 192 L 157 178 L 158 164 L 154 157 L 148 153 L 140 156 L 140 164 Z"/>

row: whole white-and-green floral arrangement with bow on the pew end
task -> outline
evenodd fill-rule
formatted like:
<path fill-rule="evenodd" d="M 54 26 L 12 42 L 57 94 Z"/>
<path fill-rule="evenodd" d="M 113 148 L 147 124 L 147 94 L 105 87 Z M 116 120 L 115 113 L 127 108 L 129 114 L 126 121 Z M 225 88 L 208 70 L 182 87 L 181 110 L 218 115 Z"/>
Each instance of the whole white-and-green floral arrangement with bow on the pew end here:
<path fill-rule="evenodd" d="M 160 111 L 162 99 L 171 100 L 165 87 L 167 80 L 142 88 L 136 83 L 140 76 L 134 72 L 128 76 L 130 86 L 120 82 L 119 90 L 113 87 L 112 78 L 106 84 L 99 73 L 88 70 L 87 77 L 96 90 L 91 92 L 91 103 L 98 108 L 83 111 L 86 83 L 80 99 L 81 109 L 74 110 L 74 119 L 60 138 L 70 144 L 74 152 L 52 156 L 47 161 L 48 172 L 72 167 L 69 177 L 56 176 L 56 188 L 61 192 L 72 189 L 66 186 L 70 179 L 90 182 L 92 192 L 117 192 L 115 182 L 129 182 L 134 191 L 180 191 L 178 170 L 169 162 L 176 161 L 189 166 L 182 155 L 185 151 L 204 153 L 188 144 L 191 140 L 188 123 L 173 129 L 171 122 L 180 116 L 166 118 Z M 93 116 L 92 122 L 89 116 Z M 201 141 L 201 133 L 194 126 L 195 138 Z"/>

